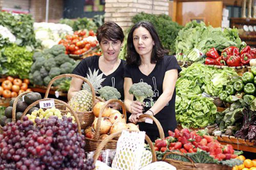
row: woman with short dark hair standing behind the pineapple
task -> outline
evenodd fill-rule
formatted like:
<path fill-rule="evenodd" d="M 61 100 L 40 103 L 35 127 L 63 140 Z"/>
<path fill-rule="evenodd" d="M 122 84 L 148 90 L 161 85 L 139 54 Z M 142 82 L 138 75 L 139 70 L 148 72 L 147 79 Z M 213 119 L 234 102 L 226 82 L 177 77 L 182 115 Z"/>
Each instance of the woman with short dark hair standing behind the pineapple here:
<path fill-rule="evenodd" d="M 98 74 L 103 73 L 102 78 L 105 78 L 102 82 L 102 86 L 114 86 L 114 88 L 120 92 L 121 99 L 123 100 L 125 61 L 118 58 L 125 37 L 122 28 L 116 23 L 107 22 L 98 28 L 96 36 L 99 41 L 102 56 L 92 56 L 82 59 L 79 65 L 74 69 L 73 74 L 87 77 L 89 68 L 91 71 L 99 70 Z M 77 91 L 81 90 L 82 84 L 83 80 L 72 78 L 70 89 L 68 91 L 69 100 L 76 95 Z M 120 108 L 118 103 L 112 104 L 111 106 L 116 109 Z"/>

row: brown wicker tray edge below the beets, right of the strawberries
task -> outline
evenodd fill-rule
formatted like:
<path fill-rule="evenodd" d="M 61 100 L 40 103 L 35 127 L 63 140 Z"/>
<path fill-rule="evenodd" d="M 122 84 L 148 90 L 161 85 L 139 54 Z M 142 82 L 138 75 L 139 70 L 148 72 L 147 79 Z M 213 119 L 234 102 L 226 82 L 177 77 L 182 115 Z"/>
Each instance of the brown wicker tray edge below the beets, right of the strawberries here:
<path fill-rule="evenodd" d="M 241 138 L 236 138 L 235 136 L 228 136 L 228 135 L 217 136 L 217 140 L 220 142 L 227 142 L 230 144 L 238 144 L 238 145 L 256 148 L 256 140 L 241 139 Z"/>

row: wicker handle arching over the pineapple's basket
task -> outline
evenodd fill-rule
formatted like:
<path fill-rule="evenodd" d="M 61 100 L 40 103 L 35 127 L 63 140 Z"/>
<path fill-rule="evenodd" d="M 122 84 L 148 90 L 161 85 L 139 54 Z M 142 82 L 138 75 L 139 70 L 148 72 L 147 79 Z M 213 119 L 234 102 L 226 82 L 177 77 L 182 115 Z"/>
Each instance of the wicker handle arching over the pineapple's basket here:
<path fill-rule="evenodd" d="M 44 98 L 48 97 L 50 88 L 52 86 L 52 83 L 55 82 L 55 80 L 63 78 L 63 77 L 74 77 L 74 78 L 78 78 L 78 79 L 84 80 L 84 82 L 86 82 L 90 86 L 90 89 L 91 89 L 92 94 L 93 94 L 93 105 L 94 105 L 94 102 L 95 102 L 95 91 L 94 91 L 93 85 L 88 81 L 88 79 L 86 79 L 84 77 L 81 77 L 79 75 L 76 75 L 76 74 L 61 74 L 61 75 L 58 75 L 56 77 L 53 77 L 52 80 L 49 82 L 49 84 L 47 86 L 47 90 L 45 92 Z"/>

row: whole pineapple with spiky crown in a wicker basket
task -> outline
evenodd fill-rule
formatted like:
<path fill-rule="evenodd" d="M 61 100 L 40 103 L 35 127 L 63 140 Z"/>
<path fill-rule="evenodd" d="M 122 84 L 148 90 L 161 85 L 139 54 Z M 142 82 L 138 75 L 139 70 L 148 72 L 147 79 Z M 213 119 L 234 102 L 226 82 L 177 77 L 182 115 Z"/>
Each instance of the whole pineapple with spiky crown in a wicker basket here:
<path fill-rule="evenodd" d="M 88 81 L 93 85 L 95 93 L 98 93 L 99 88 L 102 87 L 101 83 L 105 80 L 102 79 L 103 73 L 99 74 L 99 70 L 94 70 L 93 73 L 89 68 L 89 75 L 87 74 Z M 75 96 L 73 96 L 69 105 L 74 111 L 91 111 L 92 110 L 93 96 L 90 86 L 84 82 L 81 91 L 78 91 Z"/>

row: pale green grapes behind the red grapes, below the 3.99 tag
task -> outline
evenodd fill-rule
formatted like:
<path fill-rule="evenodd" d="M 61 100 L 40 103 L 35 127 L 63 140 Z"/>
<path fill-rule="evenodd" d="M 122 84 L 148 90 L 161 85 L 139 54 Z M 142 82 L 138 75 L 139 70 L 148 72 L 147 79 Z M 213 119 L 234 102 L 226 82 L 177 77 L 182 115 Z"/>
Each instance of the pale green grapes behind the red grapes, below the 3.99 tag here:
<path fill-rule="evenodd" d="M 39 110 L 32 111 L 31 114 L 27 114 L 26 116 L 33 123 L 35 123 L 35 119 L 36 118 L 38 118 L 38 119 L 44 119 L 44 118 L 45 119 L 49 119 L 50 116 L 57 116 L 59 119 L 62 118 L 61 111 L 56 109 L 55 107 L 49 108 L 46 111 L 44 111 L 42 108 L 40 108 Z M 72 118 L 72 122 L 73 123 L 75 122 L 75 117 L 71 116 L 70 113 L 67 113 L 66 116 L 67 116 L 67 118 L 71 117 Z"/>

